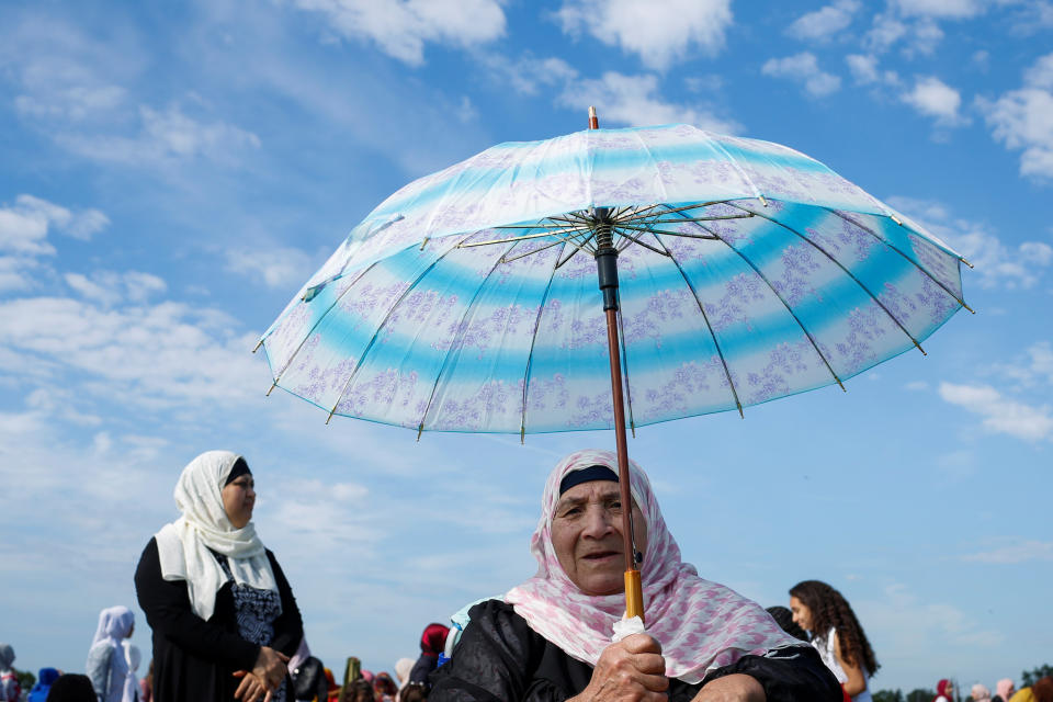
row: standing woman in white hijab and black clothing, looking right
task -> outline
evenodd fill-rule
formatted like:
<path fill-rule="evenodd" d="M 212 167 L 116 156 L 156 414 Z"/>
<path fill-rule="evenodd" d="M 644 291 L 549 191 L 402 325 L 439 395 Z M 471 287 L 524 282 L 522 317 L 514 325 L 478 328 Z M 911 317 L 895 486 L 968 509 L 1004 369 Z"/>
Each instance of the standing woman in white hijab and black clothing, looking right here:
<path fill-rule="evenodd" d="M 252 524 L 245 458 L 208 451 L 176 485 L 182 517 L 139 559 L 135 587 L 154 630 L 154 695 L 286 702 L 286 664 L 304 636 L 292 588 Z"/>

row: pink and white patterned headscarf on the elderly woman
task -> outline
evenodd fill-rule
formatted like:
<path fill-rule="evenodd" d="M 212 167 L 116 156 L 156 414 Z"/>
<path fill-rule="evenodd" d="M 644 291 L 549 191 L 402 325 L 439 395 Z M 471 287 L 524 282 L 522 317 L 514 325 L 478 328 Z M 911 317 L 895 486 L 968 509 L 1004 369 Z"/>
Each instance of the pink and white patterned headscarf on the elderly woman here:
<path fill-rule="evenodd" d="M 564 571 L 552 545 L 552 517 L 559 483 L 573 471 L 604 465 L 618 472 L 610 451 L 587 450 L 564 458 L 548 475 L 541 501 L 541 521 L 530 541 L 537 574 L 512 588 L 505 601 L 532 630 L 567 655 L 595 666 L 611 644 L 612 626 L 625 610 L 621 593 L 581 592 Z M 647 550 L 641 579 L 647 633 L 661 644 L 666 676 L 700 682 L 710 670 L 745 655 L 801 642 L 785 634 L 759 604 L 728 588 L 703 580 L 694 566 L 680 561 L 680 547 L 666 528 L 650 480 L 630 461 L 633 498 L 647 521 Z"/>

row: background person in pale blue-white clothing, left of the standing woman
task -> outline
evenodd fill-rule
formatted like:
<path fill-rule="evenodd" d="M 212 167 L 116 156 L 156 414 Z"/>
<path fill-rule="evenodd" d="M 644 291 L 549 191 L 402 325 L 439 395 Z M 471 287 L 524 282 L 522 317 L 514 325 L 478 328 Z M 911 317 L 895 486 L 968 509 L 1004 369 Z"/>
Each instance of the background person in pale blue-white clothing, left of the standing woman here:
<path fill-rule="evenodd" d="M 99 612 L 84 672 L 100 702 L 135 702 L 138 698 L 139 686 L 124 655 L 124 639 L 134 631 L 135 614 L 123 604 Z"/>

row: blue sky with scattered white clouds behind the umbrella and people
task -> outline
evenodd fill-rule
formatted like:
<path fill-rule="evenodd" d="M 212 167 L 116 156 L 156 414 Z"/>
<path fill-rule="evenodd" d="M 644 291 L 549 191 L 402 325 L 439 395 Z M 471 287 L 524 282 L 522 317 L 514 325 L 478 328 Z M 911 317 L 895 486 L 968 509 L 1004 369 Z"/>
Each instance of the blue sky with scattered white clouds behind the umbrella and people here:
<path fill-rule="evenodd" d="M 214 448 L 336 669 L 530 576 L 544 476 L 612 437 L 326 427 L 249 352 L 387 194 L 595 104 L 792 146 L 976 267 L 928 356 L 637 432 L 687 559 L 765 605 L 835 585 L 874 689 L 1053 663 L 1051 36 L 1046 0 L 4 3 L 0 639 L 81 669 Z"/>

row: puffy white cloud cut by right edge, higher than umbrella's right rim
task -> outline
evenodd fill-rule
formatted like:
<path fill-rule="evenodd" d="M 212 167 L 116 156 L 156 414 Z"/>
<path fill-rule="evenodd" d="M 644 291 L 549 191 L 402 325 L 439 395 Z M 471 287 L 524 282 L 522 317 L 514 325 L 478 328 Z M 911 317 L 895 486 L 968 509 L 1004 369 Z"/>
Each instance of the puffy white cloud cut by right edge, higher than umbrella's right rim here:
<path fill-rule="evenodd" d="M 1053 54 L 1039 58 L 1024 72 L 1023 87 L 990 102 L 976 104 L 997 141 L 1023 152 L 1020 174 L 1053 178 Z"/>

